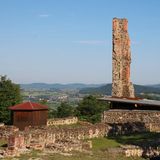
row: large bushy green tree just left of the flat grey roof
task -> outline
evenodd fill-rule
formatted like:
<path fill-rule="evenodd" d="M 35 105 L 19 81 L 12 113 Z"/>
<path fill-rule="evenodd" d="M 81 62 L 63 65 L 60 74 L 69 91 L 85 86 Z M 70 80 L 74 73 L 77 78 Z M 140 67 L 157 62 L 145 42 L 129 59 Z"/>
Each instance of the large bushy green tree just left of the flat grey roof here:
<path fill-rule="evenodd" d="M 81 120 L 87 120 L 91 123 L 101 121 L 101 114 L 108 109 L 106 103 L 100 102 L 96 97 L 89 95 L 83 98 L 77 107 L 77 116 Z"/>

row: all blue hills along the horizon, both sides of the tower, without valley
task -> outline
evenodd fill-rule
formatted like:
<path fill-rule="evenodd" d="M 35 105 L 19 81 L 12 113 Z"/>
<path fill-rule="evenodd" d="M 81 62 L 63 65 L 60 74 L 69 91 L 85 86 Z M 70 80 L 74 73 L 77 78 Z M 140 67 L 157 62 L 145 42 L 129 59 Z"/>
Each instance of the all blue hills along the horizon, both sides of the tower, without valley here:
<path fill-rule="evenodd" d="M 47 83 L 31 83 L 20 84 L 21 89 L 24 90 L 53 90 L 59 91 L 63 89 L 78 89 L 81 94 L 106 94 L 111 95 L 111 84 L 83 84 L 83 83 L 70 83 L 70 84 L 47 84 Z M 134 85 L 135 93 L 158 93 L 160 94 L 160 84 L 156 85 Z"/>

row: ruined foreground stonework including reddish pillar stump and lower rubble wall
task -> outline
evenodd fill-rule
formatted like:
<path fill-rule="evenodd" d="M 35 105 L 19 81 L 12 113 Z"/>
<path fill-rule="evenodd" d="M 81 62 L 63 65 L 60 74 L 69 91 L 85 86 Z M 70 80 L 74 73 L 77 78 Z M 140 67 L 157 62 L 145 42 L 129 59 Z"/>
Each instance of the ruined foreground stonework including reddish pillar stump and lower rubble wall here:
<path fill-rule="evenodd" d="M 17 131 L 8 138 L 9 155 L 18 153 L 22 148 L 47 150 L 52 152 L 83 151 L 92 147 L 91 141 L 83 141 L 95 137 L 104 137 L 104 124 L 86 124 L 75 127 L 26 127 L 24 132 Z"/>

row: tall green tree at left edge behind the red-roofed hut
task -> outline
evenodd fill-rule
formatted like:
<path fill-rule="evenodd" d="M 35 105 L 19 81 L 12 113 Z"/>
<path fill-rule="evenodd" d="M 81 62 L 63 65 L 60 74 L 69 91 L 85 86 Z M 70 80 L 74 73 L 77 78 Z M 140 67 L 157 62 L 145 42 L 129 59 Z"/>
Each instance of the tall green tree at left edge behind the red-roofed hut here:
<path fill-rule="evenodd" d="M 6 76 L 0 76 L 0 122 L 9 123 L 8 107 L 21 102 L 20 87 Z"/>

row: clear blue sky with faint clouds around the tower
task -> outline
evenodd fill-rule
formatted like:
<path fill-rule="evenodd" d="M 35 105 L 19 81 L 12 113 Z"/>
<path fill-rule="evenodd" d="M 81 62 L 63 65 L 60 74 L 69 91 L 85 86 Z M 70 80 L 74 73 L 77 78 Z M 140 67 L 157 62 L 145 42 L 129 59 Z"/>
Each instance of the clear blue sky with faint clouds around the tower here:
<path fill-rule="evenodd" d="M 160 83 L 159 0 L 0 0 L 0 75 L 111 83 L 112 19 L 127 18 L 131 81 Z"/>

